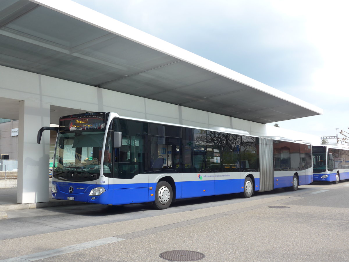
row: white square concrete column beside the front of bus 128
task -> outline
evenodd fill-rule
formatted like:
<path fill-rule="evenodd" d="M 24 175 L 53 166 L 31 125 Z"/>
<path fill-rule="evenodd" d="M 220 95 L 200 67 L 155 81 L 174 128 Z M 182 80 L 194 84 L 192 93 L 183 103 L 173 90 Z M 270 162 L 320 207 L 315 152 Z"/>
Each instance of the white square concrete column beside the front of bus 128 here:
<path fill-rule="evenodd" d="M 40 144 L 36 138 L 42 126 L 50 126 L 50 104 L 33 99 L 19 103 L 17 203 L 48 202 L 50 132 L 43 133 Z"/>

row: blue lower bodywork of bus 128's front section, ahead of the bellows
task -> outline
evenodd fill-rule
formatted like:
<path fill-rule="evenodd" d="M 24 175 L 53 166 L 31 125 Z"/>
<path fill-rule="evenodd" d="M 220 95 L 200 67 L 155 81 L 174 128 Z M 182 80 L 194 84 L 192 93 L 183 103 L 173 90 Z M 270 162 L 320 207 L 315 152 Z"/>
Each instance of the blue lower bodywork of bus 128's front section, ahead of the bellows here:
<path fill-rule="evenodd" d="M 244 191 L 245 179 L 198 180 L 175 182 L 173 194 L 176 199 L 223 195 Z M 52 198 L 74 200 L 87 203 L 105 205 L 124 205 L 155 201 L 157 183 L 139 184 L 83 184 L 54 181 L 57 192 L 52 192 Z M 254 180 L 254 190 L 259 190 L 259 178 Z M 105 191 L 99 196 L 89 196 L 96 187 L 103 187 Z M 73 190 L 72 190 L 73 189 Z"/>

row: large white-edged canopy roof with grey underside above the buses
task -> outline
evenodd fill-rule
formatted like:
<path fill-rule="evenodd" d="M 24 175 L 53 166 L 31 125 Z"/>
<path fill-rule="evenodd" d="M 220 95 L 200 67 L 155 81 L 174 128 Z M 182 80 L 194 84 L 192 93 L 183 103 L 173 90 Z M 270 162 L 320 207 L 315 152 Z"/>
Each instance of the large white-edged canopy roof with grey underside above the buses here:
<path fill-rule="evenodd" d="M 2 0 L 0 46 L 3 66 L 248 121 L 322 114 L 314 105 L 69 0 Z"/>

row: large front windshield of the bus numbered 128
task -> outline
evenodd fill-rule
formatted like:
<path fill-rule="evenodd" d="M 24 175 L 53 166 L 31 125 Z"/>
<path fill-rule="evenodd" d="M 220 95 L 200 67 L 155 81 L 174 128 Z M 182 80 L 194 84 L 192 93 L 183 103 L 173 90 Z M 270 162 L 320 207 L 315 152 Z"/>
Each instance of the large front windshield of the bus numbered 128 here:
<path fill-rule="evenodd" d="M 64 181 L 92 181 L 99 177 L 105 132 L 74 131 L 58 134 L 53 177 Z"/>

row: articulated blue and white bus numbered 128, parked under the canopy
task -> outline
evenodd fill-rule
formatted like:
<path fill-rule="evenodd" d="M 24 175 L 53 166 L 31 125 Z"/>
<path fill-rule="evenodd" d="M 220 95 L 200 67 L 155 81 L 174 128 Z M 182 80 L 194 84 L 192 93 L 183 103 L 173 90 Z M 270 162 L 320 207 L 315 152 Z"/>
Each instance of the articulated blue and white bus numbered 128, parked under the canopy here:
<path fill-rule="evenodd" d="M 97 112 L 64 116 L 52 198 L 122 205 L 284 188 L 312 182 L 311 145 Z"/>

